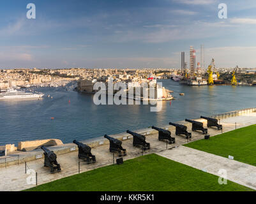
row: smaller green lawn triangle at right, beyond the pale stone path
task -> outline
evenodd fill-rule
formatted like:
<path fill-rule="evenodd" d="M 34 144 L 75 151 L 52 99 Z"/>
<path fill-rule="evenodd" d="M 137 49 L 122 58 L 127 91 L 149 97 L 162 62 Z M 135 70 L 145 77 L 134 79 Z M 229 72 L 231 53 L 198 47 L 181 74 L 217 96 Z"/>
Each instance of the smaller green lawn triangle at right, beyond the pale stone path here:
<path fill-rule="evenodd" d="M 209 140 L 198 140 L 184 146 L 256 166 L 256 125 L 236 129 Z"/>

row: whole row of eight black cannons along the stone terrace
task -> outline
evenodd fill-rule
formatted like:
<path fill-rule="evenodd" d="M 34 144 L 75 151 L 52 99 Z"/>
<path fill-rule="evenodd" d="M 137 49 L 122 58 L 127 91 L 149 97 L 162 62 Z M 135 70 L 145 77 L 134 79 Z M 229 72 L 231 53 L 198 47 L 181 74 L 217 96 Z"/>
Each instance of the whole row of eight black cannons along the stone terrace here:
<path fill-rule="evenodd" d="M 207 120 L 207 128 L 216 127 L 218 128 L 218 130 L 222 129 L 222 125 L 218 124 L 217 119 L 203 117 L 203 116 L 201 116 L 201 118 Z M 207 128 L 204 128 L 202 122 L 198 122 L 195 120 L 188 120 L 188 119 L 185 119 L 185 120 L 187 122 L 192 123 L 192 131 L 202 131 L 203 134 L 207 134 Z M 169 124 L 171 126 L 176 127 L 176 135 L 184 135 L 185 138 L 192 137 L 192 133 L 188 133 L 187 131 L 187 126 L 172 123 L 172 122 L 169 122 Z M 157 128 L 155 126 L 152 126 L 151 128 L 156 129 L 158 131 L 158 140 L 168 142 L 169 144 L 175 143 L 175 138 L 171 136 L 171 133 L 169 130 Z M 127 130 L 126 133 L 129 133 L 130 135 L 133 136 L 134 147 L 139 147 L 142 150 L 150 149 L 150 143 L 146 142 L 146 137 L 144 135 L 132 132 L 130 130 Z M 126 156 L 126 149 L 123 149 L 122 142 L 120 140 L 117 140 L 116 138 L 112 138 L 108 135 L 105 135 L 104 137 L 109 140 L 110 152 L 118 154 L 119 157 Z M 78 142 L 77 140 L 73 140 L 73 143 L 75 143 L 79 148 L 79 154 L 78 154 L 79 159 L 83 159 L 87 164 L 96 162 L 96 157 L 93 154 L 91 154 L 91 147 L 89 147 L 84 143 Z M 43 154 L 45 155 L 44 166 L 50 167 L 50 173 L 61 171 L 61 165 L 57 163 L 56 154 L 44 146 L 42 146 L 41 149 L 43 149 L 44 151 Z"/>

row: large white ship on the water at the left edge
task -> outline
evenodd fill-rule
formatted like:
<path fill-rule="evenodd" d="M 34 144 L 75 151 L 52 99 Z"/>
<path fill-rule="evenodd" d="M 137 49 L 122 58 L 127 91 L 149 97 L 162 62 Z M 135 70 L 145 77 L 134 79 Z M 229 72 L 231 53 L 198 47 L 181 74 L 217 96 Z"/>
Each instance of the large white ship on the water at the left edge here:
<path fill-rule="evenodd" d="M 8 89 L 8 91 L 0 92 L 0 100 L 2 99 L 29 99 L 41 98 L 44 94 L 34 94 L 29 92 L 17 91 L 15 89 Z"/>

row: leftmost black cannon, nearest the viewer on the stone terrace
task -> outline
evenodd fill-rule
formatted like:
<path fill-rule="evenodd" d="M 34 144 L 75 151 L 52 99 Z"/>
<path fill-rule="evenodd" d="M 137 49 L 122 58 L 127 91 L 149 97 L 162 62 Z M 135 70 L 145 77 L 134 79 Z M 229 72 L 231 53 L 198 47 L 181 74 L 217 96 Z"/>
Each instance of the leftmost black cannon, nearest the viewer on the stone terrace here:
<path fill-rule="evenodd" d="M 41 146 L 41 149 L 43 150 L 43 154 L 45 156 L 44 166 L 50 167 L 50 173 L 61 171 L 61 164 L 57 163 L 56 154 L 53 151 L 47 149 L 45 146 Z"/>

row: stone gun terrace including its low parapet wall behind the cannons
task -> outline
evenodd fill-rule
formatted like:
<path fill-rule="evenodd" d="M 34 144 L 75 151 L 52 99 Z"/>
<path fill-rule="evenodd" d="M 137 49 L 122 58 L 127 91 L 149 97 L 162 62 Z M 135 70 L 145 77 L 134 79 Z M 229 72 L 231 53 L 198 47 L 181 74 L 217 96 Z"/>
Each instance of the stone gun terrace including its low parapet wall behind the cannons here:
<path fill-rule="evenodd" d="M 256 124 L 256 109 L 250 108 L 246 110 L 237 110 L 229 113 L 222 113 L 219 115 L 213 115 L 217 119 L 220 119 L 220 124 L 223 126 L 223 133 L 232 131 L 236 128 L 243 128 Z M 204 122 L 206 126 L 206 120 L 197 119 L 198 121 Z M 174 121 L 167 121 L 174 122 Z M 191 131 L 192 124 L 181 121 L 179 124 L 185 124 L 188 126 L 188 131 Z M 153 124 L 150 124 L 153 125 Z M 146 136 L 146 142 L 151 144 L 151 149 L 146 152 L 133 147 L 132 136 L 128 133 L 119 133 L 117 135 L 110 135 L 114 138 L 122 140 L 124 149 L 127 150 L 127 156 L 124 156 L 124 161 L 132 159 L 134 157 L 142 156 L 143 154 L 157 153 L 163 156 L 170 157 L 167 155 L 171 154 L 172 149 L 176 150 L 175 147 L 179 147 L 184 143 L 193 142 L 204 138 L 204 135 L 200 132 L 192 132 L 192 138 L 186 139 L 184 136 L 175 135 L 175 127 L 165 126 L 164 129 L 169 129 L 172 136 L 176 138 L 176 143 L 167 144 L 165 142 L 158 141 L 158 131 L 154 129 L 140 129 L 135 131 Z M 215 128 L 208 128 L 208 134 L 210 136 L 219 135 L 222 131 L 218 131 Z M 102 166 L 107 166 L 116 163 L 116 156 L 109 152 L 109 141 L 105 138 L 99 137 L 91 140 L 81 141 L 92 147 L 91 152 L 96 156 L 96 163 L 85 164 L 80 161 L 77 157 L 77 145 L 73 143 L 67 143 L 62 145 L 56 145 L 49 147 L 50 150 L 57 154 L 57 161 L 61 164 L 61 172 L 50 173 L 49 168 L 43 167 L 43 151 L 36 149 L 27 152 L 15 152 L 8 156 L 0 157 L 0 190 L 1 191 L 20 191 L 34 187 L 36 184 L 30 184 L 28 182 L 29 177 L 36 173 L 37 184 L 44 184 L 52 180 L 61 179 L 84 171 L 93 170 Z M 181 149 L 183 147 L 180 147 Z M 179 149 L 179 148 L 177 148 Z M 176 150 L 177 152 L 177 150 Z M 114 157 L 113 157 L 114 156 Z"/>

